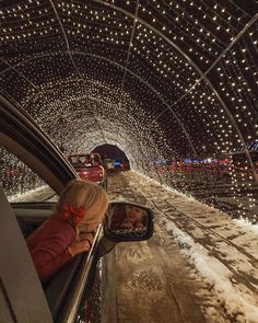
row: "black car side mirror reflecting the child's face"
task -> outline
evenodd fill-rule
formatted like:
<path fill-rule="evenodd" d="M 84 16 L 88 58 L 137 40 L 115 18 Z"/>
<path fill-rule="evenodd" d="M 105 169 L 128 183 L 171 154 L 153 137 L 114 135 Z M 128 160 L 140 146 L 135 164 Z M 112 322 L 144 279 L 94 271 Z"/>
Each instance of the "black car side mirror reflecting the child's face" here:
<path fill-rule="evenodd" d="M 153 214 L 141 205 L 110 203 L 104 222 L 105 235 L 112 240 L 141 241 L 153 234 Z"/>

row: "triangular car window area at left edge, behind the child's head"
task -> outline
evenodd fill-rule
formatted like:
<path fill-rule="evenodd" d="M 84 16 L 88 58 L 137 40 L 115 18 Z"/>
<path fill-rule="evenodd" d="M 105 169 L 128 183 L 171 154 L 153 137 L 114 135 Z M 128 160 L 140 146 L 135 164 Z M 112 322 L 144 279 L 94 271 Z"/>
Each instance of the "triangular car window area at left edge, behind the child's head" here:
<path fill-rule="evenodd" d="M 0 146 L 0 182 L 10 203 L 56 201 L 55 192 L 17 157 Z"/>

